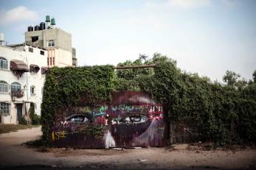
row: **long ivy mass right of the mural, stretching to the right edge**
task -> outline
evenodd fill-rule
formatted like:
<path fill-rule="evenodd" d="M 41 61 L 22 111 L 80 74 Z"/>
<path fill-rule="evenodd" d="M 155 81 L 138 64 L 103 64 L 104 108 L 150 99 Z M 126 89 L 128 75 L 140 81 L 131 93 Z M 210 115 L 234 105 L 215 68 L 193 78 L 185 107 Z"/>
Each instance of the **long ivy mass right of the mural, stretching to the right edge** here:
<path fill-rule="evenodd" d="M 120 65 L 138 63 L 142 63 L 141 58 Z M 153 63 L 154 69 L 117 71 L 117 79 L 125 82 L 123 86 L 136 85 L 137 91 L 146 91 L 165 105 L 165 121 L 173 127 L 170 135 L 174 142 L 212 141 L 217 146 L 255 144 L 255 81 L 246 82 L 238 79 L 239 74 L 226 71 L 226 84 L 211 82 L 208 77 L 181 71 L 176 61 L 157 53 L 142 64 Z M 123 87 L 127 88 L 130 87 Z"/>

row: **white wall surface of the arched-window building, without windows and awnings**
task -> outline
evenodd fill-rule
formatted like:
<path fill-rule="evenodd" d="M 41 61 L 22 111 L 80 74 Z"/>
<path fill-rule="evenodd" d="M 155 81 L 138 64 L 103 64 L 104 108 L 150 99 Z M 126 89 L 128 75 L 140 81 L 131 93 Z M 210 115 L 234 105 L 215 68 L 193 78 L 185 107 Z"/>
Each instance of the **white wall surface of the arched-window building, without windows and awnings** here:
<path fill-rule="evenodd" d="M 10 103 L 10 115 L 1 116 L 2 123 L 5 124 L 17 124 L 17 103 L 22 103 L 22 113 L 25 114 L 26 110 L 29 110 L 30 104 L 26 102 L 34 102 L 35 113 L 41 115 L 41 102 L 42 102 L 42 89 L 44 86 L 45 75 L 41 74 L 41 70 L 38 73 L 25 72 L 21 77 L 16 77 L 13 71 L 10 70 L 10 60 L 22 60 L 29 67 L 30 64 L 47 66 L 47 52 L 44 51 L 44 55 L 40 54 L 42 49 L 33 48 L 33 52 L 28 52 L 31 46 L 19 46 L 18 49 L 10 48 L 7 46 L 0 46 L 0 57 L 4 57 L 8 60 L 8 69 L 0 68 L 0 80 L 7 82 L 11 85 L 13 82 L 21 84 L 21 89 L 24 89 L 24 96 L 21 98 L 15 98 L 15 101 L 11 99 L 10 89 L 8 93 L 0 93 L 0 102 Z M 23 49 L 23 50 L 21 50 Z M 30 86 L 35 86 L 35 94 L 30 93 Z"/>

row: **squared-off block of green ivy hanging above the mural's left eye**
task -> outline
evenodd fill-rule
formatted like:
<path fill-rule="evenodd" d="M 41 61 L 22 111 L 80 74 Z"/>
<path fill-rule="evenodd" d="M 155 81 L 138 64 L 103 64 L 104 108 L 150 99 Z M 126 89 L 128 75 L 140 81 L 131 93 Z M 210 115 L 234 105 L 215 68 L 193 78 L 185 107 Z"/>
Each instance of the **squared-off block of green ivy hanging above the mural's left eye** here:
<path fill-rule="evenodd" d="M 88 105 L 109 102 L 114 89 L 114 66 L 54 67 L 49 69 L 44 83 L 41 105 L 42 138 L 49 142 L 50 127 L 55 113 L 74 107 L 80 96 L 86 96 Z"/>

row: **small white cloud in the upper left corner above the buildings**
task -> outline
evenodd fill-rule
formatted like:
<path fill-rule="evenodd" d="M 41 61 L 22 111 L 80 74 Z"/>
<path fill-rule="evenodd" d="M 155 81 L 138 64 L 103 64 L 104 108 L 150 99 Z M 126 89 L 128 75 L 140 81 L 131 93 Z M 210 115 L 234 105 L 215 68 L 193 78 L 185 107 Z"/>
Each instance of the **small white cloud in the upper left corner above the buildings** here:
<path fill-rule="evenodd" d="M 11 10 L 7 10 L 0 15 L 0 24 L 12 24 L 20 21 L 36 21 L 38 13 L 27 9 L 27 7 L 19 6 Z"/>

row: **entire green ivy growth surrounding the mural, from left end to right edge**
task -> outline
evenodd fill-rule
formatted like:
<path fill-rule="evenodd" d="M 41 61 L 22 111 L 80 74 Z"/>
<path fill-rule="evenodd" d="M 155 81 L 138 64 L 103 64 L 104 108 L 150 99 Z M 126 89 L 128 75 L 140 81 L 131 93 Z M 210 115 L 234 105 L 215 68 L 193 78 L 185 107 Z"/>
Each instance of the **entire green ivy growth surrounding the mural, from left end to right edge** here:
<path fill-rule="evenodd" d="M 165 121 L 174 143 L 255 144 L 255 81 L 233 79 L 230 72 L 225 85 L 211 82 L 208 77 L 181 71 L 176 61 L 161 54 L 151 59 L 140 55 L 138 60 L 119 66 L 151 64 L 156 67 L 117 71 L 112 65 L 51 68 L 41 113 L 44 141 L 49 140 L 49 127 L 58 109 L 77 105 L 81 95 L 95 105 L 109 102 L 111 91 L 145 91 L 165 105 Z"/>

